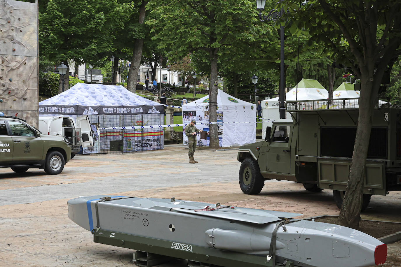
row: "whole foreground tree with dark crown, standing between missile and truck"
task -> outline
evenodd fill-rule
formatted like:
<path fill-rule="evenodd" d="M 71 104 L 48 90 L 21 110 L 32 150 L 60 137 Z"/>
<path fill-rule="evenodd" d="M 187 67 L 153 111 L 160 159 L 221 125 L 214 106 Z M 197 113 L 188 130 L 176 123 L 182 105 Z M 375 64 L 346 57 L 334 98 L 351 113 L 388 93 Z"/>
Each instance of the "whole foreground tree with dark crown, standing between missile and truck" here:
<path fill-rule="evenodd" d="M 286 0 L 294 28 L 309 30 L 312 40 L 335 49 L 337 58 L 360 79 L 358 125 L 348 185 L 338 223 L 357 228 L 362 207 L 365 164 L 383 75 L 401 54 L 401 2 L 392 0 Z M 285 8 L 287 8 L 286 6 Z"/>

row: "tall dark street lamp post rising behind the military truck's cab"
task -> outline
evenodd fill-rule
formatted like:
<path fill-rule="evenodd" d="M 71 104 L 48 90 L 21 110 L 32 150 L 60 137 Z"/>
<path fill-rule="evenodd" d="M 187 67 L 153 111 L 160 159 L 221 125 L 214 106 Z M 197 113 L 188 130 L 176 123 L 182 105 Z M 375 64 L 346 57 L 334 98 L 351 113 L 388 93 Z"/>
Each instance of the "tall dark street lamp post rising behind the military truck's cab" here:
<path fill-rule="evenodd" d="M 282 2 L 283 0 L 280 0 Z M 265 9 L 266 0 L 256 0 L 256 8 L 259 10 L 259 20 L 270 21 L 277 20 L 284 13 L 283 8 L 277 14 L 277 10 L 272 9 L 267 16 L 262 16 L 262 11 Z M 278 94 L 279 114 L 280 118 L 286 118 L 286 107 L 284 106 L 284 26 L 280 26 L 280 87 Z"/>

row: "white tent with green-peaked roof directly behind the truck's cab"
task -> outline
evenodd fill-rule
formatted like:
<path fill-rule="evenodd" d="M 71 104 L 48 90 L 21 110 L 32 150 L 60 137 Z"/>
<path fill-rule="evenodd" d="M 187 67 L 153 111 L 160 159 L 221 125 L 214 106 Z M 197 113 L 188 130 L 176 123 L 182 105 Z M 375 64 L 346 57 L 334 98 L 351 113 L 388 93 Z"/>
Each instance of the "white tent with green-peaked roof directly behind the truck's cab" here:
<path fill-rule="evenodd" d="M 302 79 L 298 83 L 297 88 L 294 87 L 286 93 L 286 101 L 295 100 L 314 100 L 328 98 L 328 91 L 317 80 Z M 278 97 L 261 101 L 262 118 L 269 120 L 277 120 L 279 116 Z M 290 113 L 286 112 L 286 117 L 290 118 Z M 271 126 L 271 121 L 263 121 L 262 123 L 262 138 L 266 135 L 266 126 Z"/>

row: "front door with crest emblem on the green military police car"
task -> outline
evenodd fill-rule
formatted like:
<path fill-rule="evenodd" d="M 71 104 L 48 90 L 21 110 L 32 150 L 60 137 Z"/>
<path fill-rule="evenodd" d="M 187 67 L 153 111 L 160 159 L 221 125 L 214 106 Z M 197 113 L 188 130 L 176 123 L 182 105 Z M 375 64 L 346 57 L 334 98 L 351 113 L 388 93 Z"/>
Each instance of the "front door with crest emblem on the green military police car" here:
<path fill-rule="evenodd" d="M 43 141 L 35 137 L 35 130 L 30 126 L 8 120 L 14 143 L 13 161 L 40 161 L 43 158 Z"/>

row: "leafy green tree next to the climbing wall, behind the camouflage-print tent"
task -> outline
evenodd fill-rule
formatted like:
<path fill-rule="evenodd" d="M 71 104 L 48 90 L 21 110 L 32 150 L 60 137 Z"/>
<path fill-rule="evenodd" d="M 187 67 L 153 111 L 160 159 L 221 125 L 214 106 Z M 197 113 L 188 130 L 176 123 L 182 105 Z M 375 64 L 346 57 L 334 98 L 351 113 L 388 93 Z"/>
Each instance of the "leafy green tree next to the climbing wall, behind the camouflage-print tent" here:
<path fill-rule="evenodd" d="M 115 2 L 74 0 L 66 4 L 64 0 L 44 0 L 39 6 L 39 51 L 57 66 L 62 61 L 68 67 L 69 59 L 76 63 L 94 62 L 112 49 L 108 33 Z M 65 88 L 68 83 L 69 69 Z"/>

